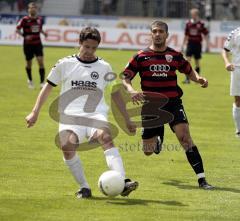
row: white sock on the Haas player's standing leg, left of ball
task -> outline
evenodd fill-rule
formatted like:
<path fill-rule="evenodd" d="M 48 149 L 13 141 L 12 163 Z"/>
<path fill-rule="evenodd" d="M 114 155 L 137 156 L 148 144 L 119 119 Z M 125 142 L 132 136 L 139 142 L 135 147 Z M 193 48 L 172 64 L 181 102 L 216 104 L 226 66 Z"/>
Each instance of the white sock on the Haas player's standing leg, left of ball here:
<path fill-rule="evenodd" d="M 75 180 L 80 185 L 80 187 L 89 188 L 79 156 L 75 154 L 75 156 L 72 159 L 66 160 L 63 158 L 63 160 L 65 164 L 68 166 Z"/>

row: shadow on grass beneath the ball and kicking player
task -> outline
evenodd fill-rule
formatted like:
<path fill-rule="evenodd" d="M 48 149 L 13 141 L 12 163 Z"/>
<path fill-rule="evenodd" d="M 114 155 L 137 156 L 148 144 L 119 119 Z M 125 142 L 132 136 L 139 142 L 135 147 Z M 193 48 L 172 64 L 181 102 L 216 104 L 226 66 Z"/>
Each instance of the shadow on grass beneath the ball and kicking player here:
<path fill-rule="evenodd" d="M 149 199 L 129 199 L 129 198 L 107 198 L 107 197 L 92 197 L 89 200 L 104 200 L 109 204 L 116 205 L 148 205 L 150 204 L 163 204 L 167 206 L 188 206 L 179 201 L 164 201 L 164 200 L 149 200 Z"/>

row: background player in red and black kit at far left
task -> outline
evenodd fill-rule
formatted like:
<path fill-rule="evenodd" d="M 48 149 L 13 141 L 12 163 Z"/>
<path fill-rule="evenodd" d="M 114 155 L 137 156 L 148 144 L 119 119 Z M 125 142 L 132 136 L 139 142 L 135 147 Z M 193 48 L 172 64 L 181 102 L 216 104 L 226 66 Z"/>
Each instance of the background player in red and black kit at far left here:
<path fill-rule="evenodd" d="M 40 74 L 40 87 L 43 87 L 45 69 L 43 62 L 43 46 L 40 38 L 42 33 L 45 37 L 47 34 L 42 30 L 43 19 L 37 15 L 37 5 L 34 2 L 28 4 L 28 16 L 24 16 L 17 24 L 16 32 L 24 38 L 23 51 L 26 59 L 26 72 L 28 76 L 28 87 L 33 89 L 32 81 L 32 59 L 37 58 Z M 23 31 L 21 31 L 21 29 Z"/>

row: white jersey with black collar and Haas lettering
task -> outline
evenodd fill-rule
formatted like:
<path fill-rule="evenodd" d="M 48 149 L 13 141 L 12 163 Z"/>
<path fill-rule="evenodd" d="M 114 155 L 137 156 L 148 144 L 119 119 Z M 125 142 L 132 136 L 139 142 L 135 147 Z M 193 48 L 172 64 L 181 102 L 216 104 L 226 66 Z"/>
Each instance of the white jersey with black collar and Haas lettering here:
<path fill-rule="evenodd" d="M 72 55 L 60 59 L 47 77 L 49 84 L 61 84 L 59 112 L 67 115 L 107 115 L 104 89 L 109 83 L 107 76 L 111 66 L 102 59 L 84 62 Z"/>

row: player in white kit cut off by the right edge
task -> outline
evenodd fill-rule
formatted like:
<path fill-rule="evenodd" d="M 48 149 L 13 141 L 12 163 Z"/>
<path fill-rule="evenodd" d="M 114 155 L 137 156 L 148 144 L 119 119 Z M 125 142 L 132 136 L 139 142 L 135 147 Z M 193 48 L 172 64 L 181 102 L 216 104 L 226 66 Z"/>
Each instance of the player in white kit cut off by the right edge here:
<path fill-rule="evenodd" d="M 230 54 L 232 54 L 232 61 L 230 61 Z M 231 73 L 230 95 L 235 98 L 232 114 L 236 126 L 236 137 L 240 138 L 240 27 L 228 35 L 222 57 L 226 70 Z"/>

